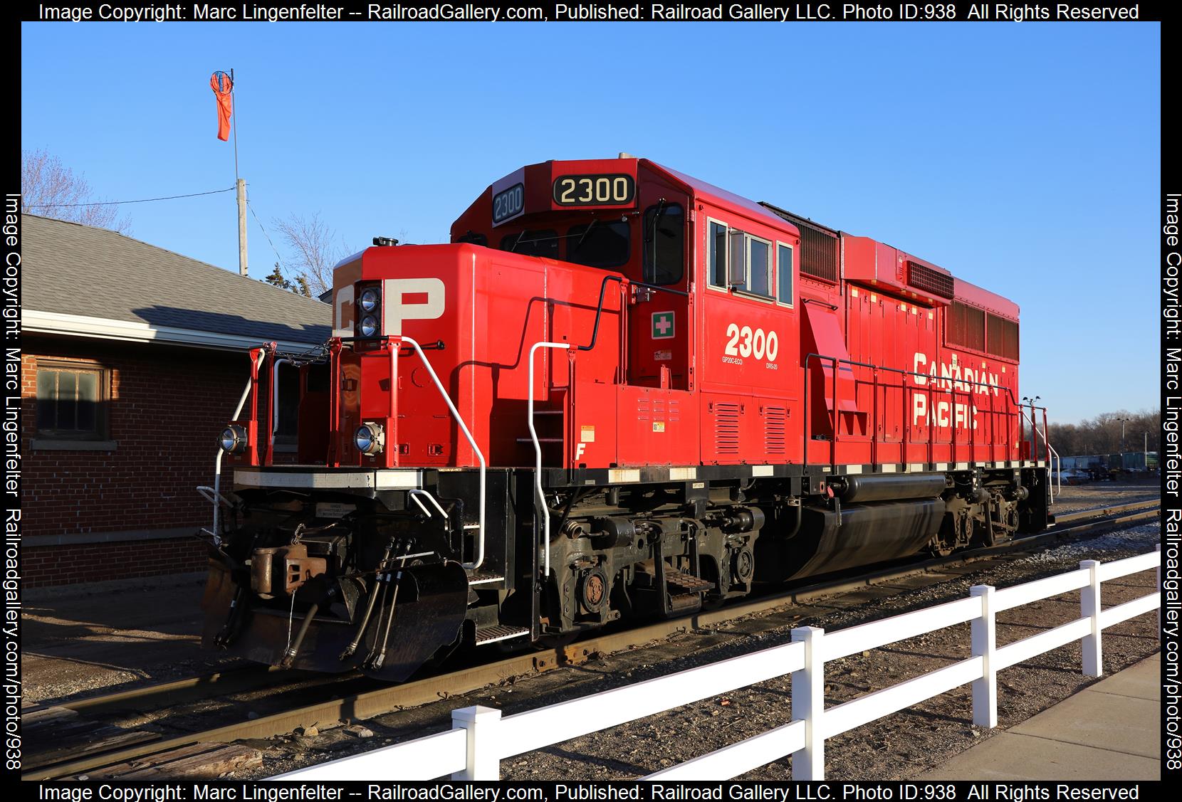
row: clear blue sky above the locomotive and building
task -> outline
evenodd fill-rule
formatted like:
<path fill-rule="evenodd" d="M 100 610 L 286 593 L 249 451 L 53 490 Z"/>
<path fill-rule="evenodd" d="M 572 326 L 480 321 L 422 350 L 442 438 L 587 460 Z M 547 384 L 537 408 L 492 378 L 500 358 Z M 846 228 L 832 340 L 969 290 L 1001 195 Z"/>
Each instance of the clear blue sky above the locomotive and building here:
<path fill-rule="evenodd" d="M 447 239 L 494 180 L 647 156 L 1015 300 L 1056 419 L 1158 405 L 1157 24 L 25 24 L 22 148 L 109 200 L 233 185 L 272 220 Z M 238 267 L 233 193 L 123 207 Z M 249 221 L 252 275 L 275 254 Z M 33 267 L 32 269 L 35 269 Z"/>

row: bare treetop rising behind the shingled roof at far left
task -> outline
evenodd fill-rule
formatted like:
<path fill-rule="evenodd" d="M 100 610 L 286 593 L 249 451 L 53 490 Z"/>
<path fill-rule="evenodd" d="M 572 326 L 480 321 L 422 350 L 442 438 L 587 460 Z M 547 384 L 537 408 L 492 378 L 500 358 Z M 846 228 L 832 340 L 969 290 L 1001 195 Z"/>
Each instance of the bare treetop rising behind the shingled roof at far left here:
<path fill-rule="evenodd" d="M 86 178 L 45 150 L 20 152 L 20 210 L 126 233 L 131 221 L 118 207 L 95 198 Z"/>

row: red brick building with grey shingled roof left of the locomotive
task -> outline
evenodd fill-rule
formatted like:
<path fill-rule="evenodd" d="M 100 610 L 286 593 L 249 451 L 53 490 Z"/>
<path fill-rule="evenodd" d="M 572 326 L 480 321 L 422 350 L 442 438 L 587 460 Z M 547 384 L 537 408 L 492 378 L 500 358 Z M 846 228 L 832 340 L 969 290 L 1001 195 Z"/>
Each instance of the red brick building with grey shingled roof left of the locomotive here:
<path fill-rule="evenodd" d="M 195 488 L 212 483 L 247 350 L 323 343 L 331 307 L 115 232 L 21 223 L 26 586 L 203 568 Z M 277 451 L 294 425 L 281 404 Z"/>

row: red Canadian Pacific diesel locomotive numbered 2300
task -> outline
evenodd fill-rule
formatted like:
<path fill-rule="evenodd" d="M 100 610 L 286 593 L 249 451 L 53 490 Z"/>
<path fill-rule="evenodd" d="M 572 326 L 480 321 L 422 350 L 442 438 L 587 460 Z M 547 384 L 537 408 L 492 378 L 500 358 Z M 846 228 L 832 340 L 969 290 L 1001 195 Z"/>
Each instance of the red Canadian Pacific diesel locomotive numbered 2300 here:
<path fill-rule="evenodd" d="M 1048 523 L 1018 306 L 917 256 L 624 155 L 505 176 L 449 244 L 375 243 L 322 348 L 252 352 L 210 646 L 403 680 Z"/>

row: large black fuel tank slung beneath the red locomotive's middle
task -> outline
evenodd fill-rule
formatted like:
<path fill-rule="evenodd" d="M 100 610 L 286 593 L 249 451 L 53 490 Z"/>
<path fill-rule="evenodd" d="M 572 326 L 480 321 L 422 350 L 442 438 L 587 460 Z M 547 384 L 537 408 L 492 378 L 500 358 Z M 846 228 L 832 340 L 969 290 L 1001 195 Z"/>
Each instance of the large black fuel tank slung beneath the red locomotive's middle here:
<path fill-rule="evenodd" d="M 837 511 L 805 507 L 800 530 L 755 541 L 755 580 L 782 581 L 896 560 L 922 549 L 944 516 L 941 498 L 842 504 Z"/>

